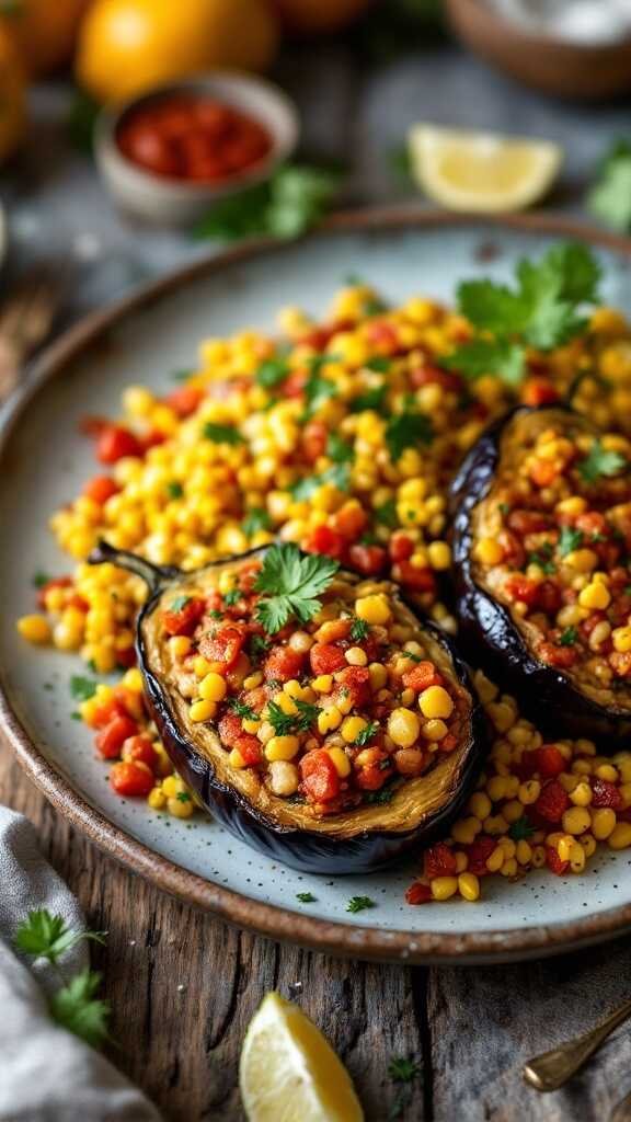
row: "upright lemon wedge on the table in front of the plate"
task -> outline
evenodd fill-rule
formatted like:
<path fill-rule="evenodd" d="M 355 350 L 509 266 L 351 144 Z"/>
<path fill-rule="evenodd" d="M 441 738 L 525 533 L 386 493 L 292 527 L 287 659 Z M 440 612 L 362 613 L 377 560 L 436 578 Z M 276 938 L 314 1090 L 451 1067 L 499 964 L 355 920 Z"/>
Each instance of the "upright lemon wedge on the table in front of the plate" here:
<path fill-rule="evenodd" d="M 268 993 L 241 1048 L 239 1086 L 249 1122 L 363 1122 L 350 1076 L 320 1029 Z"/>

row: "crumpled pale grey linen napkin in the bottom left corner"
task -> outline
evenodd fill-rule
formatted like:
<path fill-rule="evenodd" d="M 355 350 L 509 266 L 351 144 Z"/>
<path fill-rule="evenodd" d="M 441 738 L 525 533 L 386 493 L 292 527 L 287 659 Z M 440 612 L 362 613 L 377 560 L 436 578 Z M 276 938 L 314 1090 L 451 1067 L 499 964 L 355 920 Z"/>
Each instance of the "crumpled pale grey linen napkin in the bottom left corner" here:
<path fill-rule="evenodd" d="M 0 807 L 0 1122 L 159 1122 L 145 1096 L 98 1051 L 54 1024 L 46 993 L 58 974 L 12 948 L 28 912 L 47 908 L 74 930 L 79 904 L 37 849 L 33 826 Z M 65 978 L 88 965 L 85 941 L 58 963 Z"/>

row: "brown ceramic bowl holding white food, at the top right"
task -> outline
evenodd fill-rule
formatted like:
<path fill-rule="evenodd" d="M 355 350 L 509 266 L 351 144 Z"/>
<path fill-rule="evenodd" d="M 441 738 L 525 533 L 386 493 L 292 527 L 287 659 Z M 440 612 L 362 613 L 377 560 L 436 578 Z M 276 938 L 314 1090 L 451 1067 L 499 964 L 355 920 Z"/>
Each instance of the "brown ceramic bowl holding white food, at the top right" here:
<path fill-rule="evenodd" d="M 591 46 L 532 34 L 484 0 L 447 0 L 447 10 L 472 50 L 536 90 L 595 100 L 631 89 L 631 38 Z"/>

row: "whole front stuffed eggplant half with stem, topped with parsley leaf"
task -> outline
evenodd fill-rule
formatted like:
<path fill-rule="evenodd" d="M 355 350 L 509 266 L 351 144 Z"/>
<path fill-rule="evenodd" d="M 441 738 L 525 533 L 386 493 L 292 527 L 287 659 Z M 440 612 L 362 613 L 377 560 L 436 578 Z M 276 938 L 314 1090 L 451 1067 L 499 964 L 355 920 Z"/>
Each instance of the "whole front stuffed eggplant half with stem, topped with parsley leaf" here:
<path fill-rule="evenodd" d="M 443 830 L 484 744 L 464 663 L 397 586 L 271 545 L 195 572 L 101 545 L 149 585 L 137 653 L 179 772 L 227 829 L 316 873 Z"/>

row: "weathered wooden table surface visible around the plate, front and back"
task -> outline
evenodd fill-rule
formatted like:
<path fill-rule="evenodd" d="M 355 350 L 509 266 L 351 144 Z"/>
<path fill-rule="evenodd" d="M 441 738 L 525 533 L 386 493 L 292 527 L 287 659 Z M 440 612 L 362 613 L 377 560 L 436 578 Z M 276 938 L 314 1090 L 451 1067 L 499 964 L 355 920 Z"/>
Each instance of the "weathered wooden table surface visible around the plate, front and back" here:
<path fill-rule="evenodd" d="M 307 150 L 350 162 L 348 201 L 396 195 L 387 151 L 412 121 L 424 118 L 564 144 L 567 164 L 556 202 L 576 211 L 577 187 L 596 157 L 613 136 L 628 131 L 622 103 L 549 101 L 454 47 L 415 50 L 376 70 L 358 68 L 339 46 L 308 48 L 294 52 L 280 76 L 299 100 Z M 18 266 L 61 249 L 81 263 L 74 319 L 201 250 L 184 236 L 130 229 L 119 220 L 90 162 L 67 146 L 67 100 L 63 88 L 35 93 L 31 142 L 4 186 Z M 527 1058 L 591 1028 L 631 996 L 629 939 L 502 967 L 387 967 L 326 958 L 229 928 L 135 879 L 56 815 L 2 745 L 0 802 L 35 822 L 43 850 L 77 894 L 89 923 L 110 932 L 93 960 L 112 1003 L 119 1045 L 112 1059 L 166 1119 L 241 1119 L 239 1047 L 272 988 L 295 997 L 327 1032 L 374 1122 L 607 1122 L 612 1106 L 631 1091 L 630 1027 L 565 1092 L 540 1096 L 520 1078 Z M 419 1065 L 403 1096 L 387 1076 L 393 1056 Z"/>

